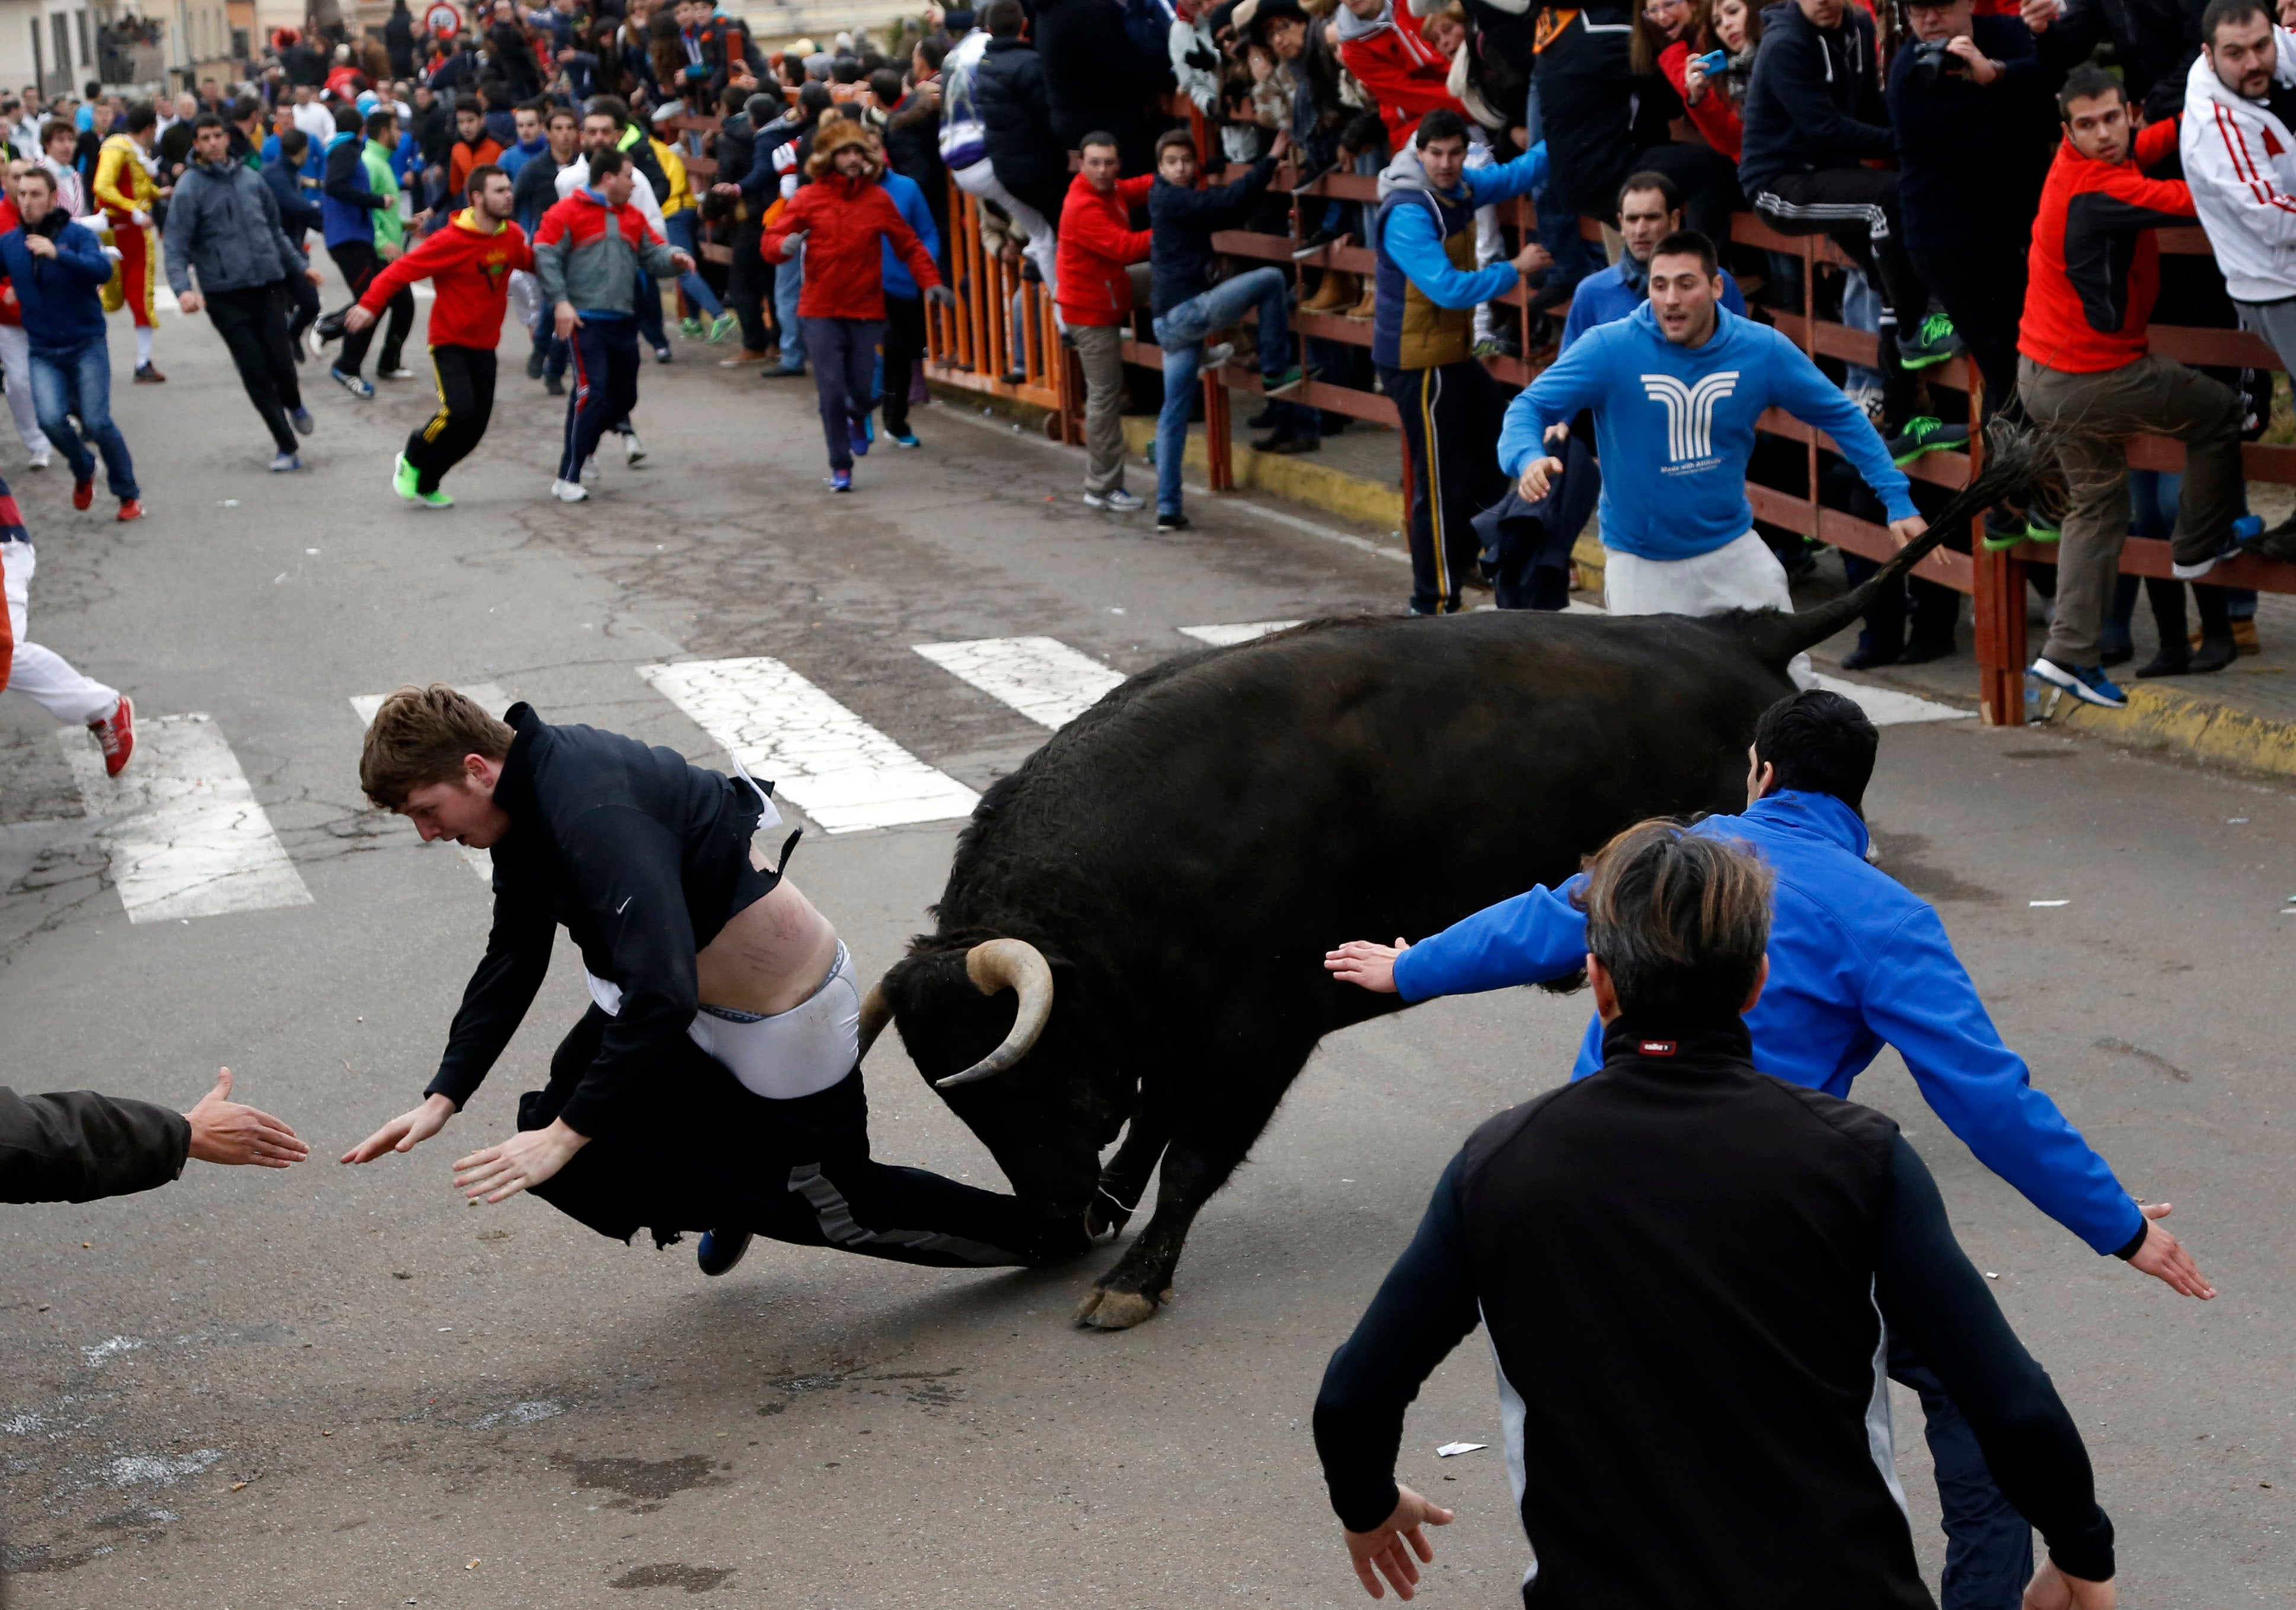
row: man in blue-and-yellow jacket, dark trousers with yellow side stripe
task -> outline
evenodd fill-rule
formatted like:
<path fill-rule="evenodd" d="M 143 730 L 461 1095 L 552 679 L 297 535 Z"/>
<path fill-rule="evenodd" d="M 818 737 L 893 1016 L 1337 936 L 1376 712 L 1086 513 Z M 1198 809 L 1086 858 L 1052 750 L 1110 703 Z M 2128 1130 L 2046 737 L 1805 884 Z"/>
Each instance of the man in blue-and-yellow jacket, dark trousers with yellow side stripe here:
<path fill-rule="evenodd" d="M 1467 122 L 1449 108 L 1421 117 L 1419 147 L 1380 175 L 1371 361 L 1403 418 L 1414 616 L 1458 613 L 1458 588 L 1476 563 L 1474 517 L 1504 494 L 1483 446 L 1499 384 L 1474 361 L 1474 305 L 1554 262 L 1534 241 L 1511 262 L 1469 271 L 1474 209 L 1529 195 L 1545 179 L 1545 145 L 1499 168 L 1467 168 Z"/>

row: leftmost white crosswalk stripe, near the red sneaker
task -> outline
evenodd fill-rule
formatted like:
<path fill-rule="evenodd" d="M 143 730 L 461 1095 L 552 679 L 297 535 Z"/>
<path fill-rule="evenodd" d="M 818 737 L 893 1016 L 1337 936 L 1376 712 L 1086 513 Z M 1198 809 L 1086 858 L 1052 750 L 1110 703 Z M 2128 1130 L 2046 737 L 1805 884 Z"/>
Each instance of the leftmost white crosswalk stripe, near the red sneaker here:
<path fill-rule="evenodd" d="M 103 753 L 87 733 L 62 733 L 60 742 L 87 813 L 110 820 L 101 843 L 131 923 L 310 905 L 211 717 L 142 721 L 135 760 L 117 779 L 103 776 Z"/>

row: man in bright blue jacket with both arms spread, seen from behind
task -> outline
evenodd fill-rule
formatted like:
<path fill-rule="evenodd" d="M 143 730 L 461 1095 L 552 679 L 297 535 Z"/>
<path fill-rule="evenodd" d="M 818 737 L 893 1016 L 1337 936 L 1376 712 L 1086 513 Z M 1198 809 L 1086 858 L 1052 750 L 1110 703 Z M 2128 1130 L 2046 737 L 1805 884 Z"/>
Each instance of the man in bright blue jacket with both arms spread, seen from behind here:
<path fill-rule="evenodd" d="M 1931 905 L 1864 861 L 1860 808 L 1878 742 L 1839 694 L 1795 694 L 1756 726 L 1745 815 L 1711 815 L 1694 829 L 1750 843 L 1777 877 L 1770 981 L 1745 1015 L 1754 1063 L 1846 1098 L 1880 1047 L 1894 1045 L 1945 1125 L 2041 1213 L 2099 1254 L 2126 1259 L 2179 1293 L 2213 1298 L 2158 1222 L 2167 1203 L 2128 1197 L 2057 1105 L 2032 1089 Z M 1350 942 L 1325 967 L 1405 1001 L 1568 978 L 1587 962 L 1587 916 L 1575 905 L 1584 882 L 1531 889 L 1401 951 Z M 1596 1022 L 1573 1077 L 1600 1066 Z M 1929 1415 L 1949 1539 L 1945 1608 L 2014 1610 L 2032 1576 L 2032 1530 L 2000 1495 L 1929 1369 L 1894 1346 L 1890 1373 L 1922 1394 Z"/>

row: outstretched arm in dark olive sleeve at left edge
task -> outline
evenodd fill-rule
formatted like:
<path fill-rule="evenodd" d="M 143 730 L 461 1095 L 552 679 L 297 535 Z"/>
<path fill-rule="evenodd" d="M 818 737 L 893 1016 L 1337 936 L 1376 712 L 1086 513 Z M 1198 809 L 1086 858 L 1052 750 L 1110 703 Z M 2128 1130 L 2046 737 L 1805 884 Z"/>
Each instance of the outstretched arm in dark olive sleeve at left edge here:
<path fill-rule="evenodd" d="M 184 1174 L 184 1162 L 285 1169 L 310 1146 L 269 1112 L 232 1096 L 232 1070 L 191 1112 L 62 1091 L 18 1096 L 0 1086 L 0 1201 L 129 1197 Z"/>

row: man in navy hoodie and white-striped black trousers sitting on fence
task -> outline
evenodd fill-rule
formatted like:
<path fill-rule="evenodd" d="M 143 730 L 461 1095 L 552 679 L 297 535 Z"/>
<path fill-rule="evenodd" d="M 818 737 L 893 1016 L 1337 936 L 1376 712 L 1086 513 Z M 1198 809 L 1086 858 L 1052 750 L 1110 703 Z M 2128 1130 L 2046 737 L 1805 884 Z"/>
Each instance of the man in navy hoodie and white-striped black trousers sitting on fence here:
<path fill-rule="evenodd" d="M 1738 186 L 1773 230 L 1830 234 L 1876 282 L 1885 374 L 1899 363 L 1926 370 L 1961 351 L 1952 319 L 1929 312 L 1929 287 L 1906 255 L 1896 175 L 1864 168 L 1871 156 L 1894 154 L 1874 16 L 1848 0 L 1768 7 L 1745 87 Z M 1894 404 L 1910 407 L 1910 386 L 1890 390 Z"/>

